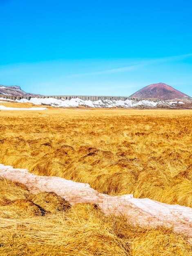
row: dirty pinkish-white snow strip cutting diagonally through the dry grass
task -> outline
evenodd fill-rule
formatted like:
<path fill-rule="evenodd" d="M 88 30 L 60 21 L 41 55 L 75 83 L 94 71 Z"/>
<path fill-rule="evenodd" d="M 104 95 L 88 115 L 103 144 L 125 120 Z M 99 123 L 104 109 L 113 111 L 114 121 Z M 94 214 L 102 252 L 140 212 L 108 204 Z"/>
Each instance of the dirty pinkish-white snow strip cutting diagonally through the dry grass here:
<path fill-rule="evenodd" d="M 173 227 L 188 236 L 192 243 L 192 208 L 178 204 L 163 204 L 148 198 L 133 198 L 132 194 L 111 196 L 98 193 L 89 184 L 73 182 L 60 177 L 38 176 L 26 169 L 14 169 L 0 164 L 0 177 L 25 184 L 34 193 L 55 192 L 72 205 L 98 204 L 108 214 L 125 215 L 133 224 L 144 227 Z"/>

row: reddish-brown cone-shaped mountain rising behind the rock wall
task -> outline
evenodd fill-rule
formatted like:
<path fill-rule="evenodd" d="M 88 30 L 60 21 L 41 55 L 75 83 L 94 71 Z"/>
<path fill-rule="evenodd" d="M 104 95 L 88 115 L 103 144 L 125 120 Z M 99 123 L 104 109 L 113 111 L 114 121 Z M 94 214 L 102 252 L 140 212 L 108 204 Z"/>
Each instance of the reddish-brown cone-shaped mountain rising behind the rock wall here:
<path fill-rule="evenodd" d="M 189 97 L 187 94 L 180 92 L 170 85 L 165 83 L 153 83 L 151 85 L 147 85 L 141 90 L 138 90 L 130 97 L 138 97 L 138 98 L 152 98 L 152 99 L 180 99 L 183 97 Z"/>

